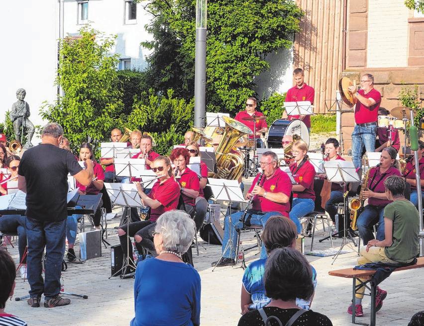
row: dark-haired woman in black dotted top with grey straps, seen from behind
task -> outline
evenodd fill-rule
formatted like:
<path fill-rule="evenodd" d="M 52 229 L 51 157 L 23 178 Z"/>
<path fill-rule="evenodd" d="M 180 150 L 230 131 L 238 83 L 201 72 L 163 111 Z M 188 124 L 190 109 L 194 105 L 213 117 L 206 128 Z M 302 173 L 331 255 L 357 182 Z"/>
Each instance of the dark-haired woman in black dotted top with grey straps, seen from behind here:
<path fill-rule="evenodd" d="M 308 300 L 314 295 L 311 265 L 302 253 L 288 247 L 277 248 L 271 252 L 265 264 L 264 283 L 265 293 L 271 298 L 271 302 L 260 310 L 263 310 L 267 317 L 278 318 L 280 325 L 286 325 L 302 309 L 297 305 L 296 298 Z M 253 310 L 241 316 L 238 326 L 265 326 L 260 310 Z M 324 315 L 304 310 L 293 325 L 332 326 L 332 323 Z"/>

